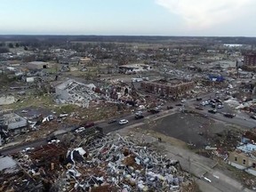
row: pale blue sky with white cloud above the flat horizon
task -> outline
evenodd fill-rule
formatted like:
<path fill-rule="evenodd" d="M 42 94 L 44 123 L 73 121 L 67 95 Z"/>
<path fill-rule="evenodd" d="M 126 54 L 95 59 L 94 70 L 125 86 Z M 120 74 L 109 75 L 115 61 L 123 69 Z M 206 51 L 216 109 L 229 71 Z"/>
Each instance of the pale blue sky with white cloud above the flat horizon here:
<path fill-rule="evenodd" d="M 0 0 L 0 34 L 256 36 L 256 0 Z"/>

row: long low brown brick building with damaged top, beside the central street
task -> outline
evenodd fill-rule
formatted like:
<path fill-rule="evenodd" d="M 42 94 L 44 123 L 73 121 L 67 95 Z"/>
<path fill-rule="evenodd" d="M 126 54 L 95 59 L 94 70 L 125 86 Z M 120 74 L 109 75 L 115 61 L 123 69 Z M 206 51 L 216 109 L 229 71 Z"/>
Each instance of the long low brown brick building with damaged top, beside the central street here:
<path fill-rule="evenodd" d="M 195 86 L 194 82 L 184 82 L 180 80 L 157 80 L 154 82 L 142 82 L 141 90 L 145 92 L 163 95 L 165 97 L 178 97 L 192 90 Z"/>

